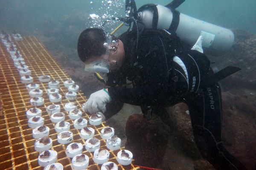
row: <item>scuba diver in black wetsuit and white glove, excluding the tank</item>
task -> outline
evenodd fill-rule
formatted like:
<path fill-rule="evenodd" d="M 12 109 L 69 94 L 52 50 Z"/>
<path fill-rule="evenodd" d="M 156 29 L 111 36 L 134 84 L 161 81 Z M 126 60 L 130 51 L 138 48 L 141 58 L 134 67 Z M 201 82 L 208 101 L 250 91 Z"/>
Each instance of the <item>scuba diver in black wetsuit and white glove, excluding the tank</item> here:
<path fill-rule="evenodd" d="M 166 8 L 177 13 L 175 8 L 183 1 L 174 0 Z M 201 37 L 191 48 L 177 36 L 177 22 L 169 29 L 148 28 L 139 22 L 137 14 L 141 10 L 137 11 L 134 4 L 134 0 L 126 1 L 127 15 L 120 20 L 130 23 L 130 28 L 118 38 L 101 28 L 85 29 L 79 36 L 77 50 L 85 71 L 95 72 L 109 86 L 90 95 L 85 112 L 102 112 L 108 119 L 127 103 L 140 106 L 146 119 L 154 113 L 169 124 L 165 108 L 184 102 L 189 107 L 195 142 L 202 156 L 218 170 L 246 170 L 224 148 L 221 139 L 218 81 L 239 68 L 228 66 L 214 73 L 202 53 Z M 154 10 L 156 5 L 146 7 Z M 153 23 L 157 23 L 154 19 Z M 131 82 L 131 88 L 127 82 Z"/>

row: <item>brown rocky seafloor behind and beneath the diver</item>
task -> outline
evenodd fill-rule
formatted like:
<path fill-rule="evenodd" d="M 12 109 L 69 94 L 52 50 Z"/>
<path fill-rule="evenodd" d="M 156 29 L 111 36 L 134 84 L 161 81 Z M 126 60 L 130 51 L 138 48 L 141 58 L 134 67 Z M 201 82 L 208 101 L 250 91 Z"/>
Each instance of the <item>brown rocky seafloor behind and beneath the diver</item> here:
<path fill-rule="evenodd" d="M 239 158 L 249 170 L 255 170 L 256 35 L 243 30 L 233 32 L 236 39 L 232 49 L 219 57 L 209 56 L 209 59 L 214 62 L 212 66 L 218 69 L 226 66 L 241 68 L 239 72 L 220 81 L 223 103 L 222 138 L 230 153 Z M 93 74 L 84 72 L 84 64 L 77 56 L 74 59 L 67 57 L 64 52 L 50 52 L 86 96 L 102 89 L 104 85 Z M 126 147 L 134 152 L 136 164 L 163 170 L 214 170 L 201 157 L 195 145 L 187 110 L 183 103 L 168 108 L 172 117 L 170 130 L 166 130 L 157 116 L 146 121 L 142 115 L 138 115 L 139 107 L 128 104 L 110 118 L 108 124 L 116 129 L 123 146 L 127 141 Z M 125 130 L 127 120 L 127 127 L 140 127 L 140 130 L 136 133 L 129 128 Z"/>

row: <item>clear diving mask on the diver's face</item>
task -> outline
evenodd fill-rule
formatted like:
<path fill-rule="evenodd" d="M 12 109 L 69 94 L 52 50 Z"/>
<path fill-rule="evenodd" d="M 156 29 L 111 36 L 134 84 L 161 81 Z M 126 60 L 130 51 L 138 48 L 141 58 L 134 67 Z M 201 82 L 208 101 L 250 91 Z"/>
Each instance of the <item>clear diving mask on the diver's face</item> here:
<path fill-rule="evenodd" d="M 117 39 L 114 40 L 113 36 L 105 33 L 106 40 L 103 43 L 103 46 L 106 49 L 104 58 L 101 60 L 93 61 L 90 64 L 85 64 L 84 71 L 88 72 L 103 72 L 109 73 L 110 64 L 108 63 L 109 52 L 111 49 L 115 49 L 115 47 L 111 47 L 112 43 L 118 45 Z"/>

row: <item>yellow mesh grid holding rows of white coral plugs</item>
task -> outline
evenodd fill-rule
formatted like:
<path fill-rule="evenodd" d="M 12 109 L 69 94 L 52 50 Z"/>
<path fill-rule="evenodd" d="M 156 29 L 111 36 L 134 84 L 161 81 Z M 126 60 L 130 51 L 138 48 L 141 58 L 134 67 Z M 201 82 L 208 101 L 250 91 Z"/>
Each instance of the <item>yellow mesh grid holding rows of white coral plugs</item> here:
<path fill-rule="evenodd" d="M 87 100 L 81 91 L 77 93 L 75 101 L 65 99 L 65 93 L 68 92 L 67 87 L 64 86 L 64 81 L 70 77 L 59 66 L 54 58 L 49 54 L 47 49 L 36 37 L 23 37 L 22 41 L 15 41 L 17 50 L 25 60 L 25 65 L 29 66 L 34 78 L 34 83 L 40 85 L 43 90 L 44 105 L 37 108 L 42 110 L 42 117 L 44 118 L 44 126 L 50 128 L 49 137 L 52 138 L 52 150 L 58 152 L 57 162 L 64 166 L 64 170 L 71 170 L 71 159 L 66 156 L 66 147 L 68 144 L 59 144 L 54 124 L 50 120 L 50 115 L 47 114 L 46 107 L 52 103 L 49 101 L 47 95 L 48 83 L 42 83 L 38 80 L 40 75 L 50 75 L 52 79 L 60 81 L 60 91 L 62 101 L 59 103 L 61 112 L 65 113 L 65 121 L 70 123 L 70 131 L 73 133 L 73 142 L 85 144 L 85 140 L 80 137 L 80 130 L 73 126 L 73 120 L 68 116 L 68 112 L 64 110 L 64 105 L 68 102 L 75 102 L 78 104 L 78 109 Z M 28 118 L 26 118 L 26 111 L 33 108 L 30 104 L 29 92 L 26 85 L 20 81 L 20 75 L 12 61 L 9 52 L 3 43 L 0 43 L 0 100 L 3 104 L 3 115 L 0 115 L 0 169 L 12 170 L 42 170 L 43 167 L 38 165 L 39 153 L 34 149 L 35 139 L 32 137 L 32 128 L 27 125 Z M 1 104 L 0 102 L 0 104 Z M 83 113 L 83 118 L 89 120 L 89 116 Z M 92 126 L 95 130 L 95 137 L 101 142 L 101 148 L 106 147 L 106 142 L 100 137 L 100 131 L 107 125 L 103 122 L 99 126 Z M 124 149 L 124 147 L 120 148 Z M 110 151 L 109 161 L 113 161 L 118 165 L 119 170 L 138 170 L 139 167 L 134 167 L 133 164 L 122 166 L 118 164 L 116 156 L 119 150 Z M 83 149 L 83 153 L 89 156 L 88 170 L 100 170 L 101 165 L 95 164 L 93 161 L 93 153 Z"/>

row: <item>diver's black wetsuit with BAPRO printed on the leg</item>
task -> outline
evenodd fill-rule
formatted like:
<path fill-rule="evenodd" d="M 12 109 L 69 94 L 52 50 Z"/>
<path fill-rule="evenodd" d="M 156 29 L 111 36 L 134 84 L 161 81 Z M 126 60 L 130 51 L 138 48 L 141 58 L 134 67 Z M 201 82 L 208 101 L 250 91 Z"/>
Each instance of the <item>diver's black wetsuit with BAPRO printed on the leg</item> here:
<path fill-rule="evenodd" d="M 126 32 L 119 37 L 125 47 L 125 61 L 118 72 L 108 74 L 112 104 L 138 105 L 145 112 L 148 108 L 184 102 L 189 107 L 195 141 L 203 157 L 217 169 L 246 169 L 223 147 L 221 89 L 207 56 L 189 50 L 167 30 L 144 30 L 138 43 L 136 36 L 136 32 Z M 126 79 L 133 82 L 134 88 L 122 86 Z M 111 117 L 110 112 L 105 116 Z"/>

